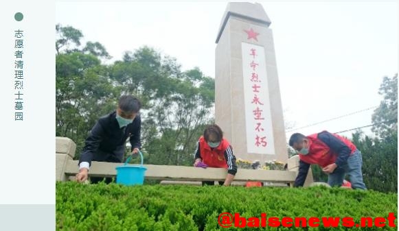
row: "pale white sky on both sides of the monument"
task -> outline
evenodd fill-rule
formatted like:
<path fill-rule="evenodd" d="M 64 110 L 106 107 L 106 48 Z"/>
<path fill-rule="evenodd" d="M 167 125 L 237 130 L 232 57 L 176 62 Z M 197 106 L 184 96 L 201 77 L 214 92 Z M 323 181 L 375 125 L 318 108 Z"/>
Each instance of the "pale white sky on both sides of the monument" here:
<path fill-rule="evenodd" d="M 258 3 L 271 19 L 286 138 L 371 124 L 383 77 L 398 73 L 397 3 Z M 58 1 L 56 23 L 80 29 L 83 42 L 102 43 L 111 61 L 148 45 L 176 58 L 183 71 L 198 66 L 214 77 L 215 40 L 226 6 L 223 1 Z M 346 114 L 352 115 L 341 117 Z M 341 118 L 308 126 L 336 117 Z M 369 128 L 363 132 L 372 134 Z"/>

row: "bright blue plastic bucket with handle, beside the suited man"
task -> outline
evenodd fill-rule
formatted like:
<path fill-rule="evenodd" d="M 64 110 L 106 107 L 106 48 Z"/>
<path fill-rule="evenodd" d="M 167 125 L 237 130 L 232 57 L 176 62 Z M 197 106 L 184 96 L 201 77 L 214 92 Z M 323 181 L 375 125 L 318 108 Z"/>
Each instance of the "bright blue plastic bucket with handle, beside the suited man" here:
<path fill-rule="evenodd" d="M 144 183 L 144 173 L 147 168 L 143 166 L 143 154 L 139 151 L 141 158 L 141 165 L 125 165 L 116 167 L 116 182 L 117 184 L 135 185 Z"/>

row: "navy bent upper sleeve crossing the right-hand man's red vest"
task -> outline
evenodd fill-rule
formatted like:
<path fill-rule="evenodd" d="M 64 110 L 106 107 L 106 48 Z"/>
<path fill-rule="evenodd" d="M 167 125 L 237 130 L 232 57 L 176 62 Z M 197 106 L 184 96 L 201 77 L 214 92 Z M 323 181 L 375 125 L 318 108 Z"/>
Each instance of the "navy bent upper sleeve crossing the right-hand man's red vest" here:
<path fill-rule="evenodd" d="M 317 135 L 317 138 L 338 154 L 338 158 L 335 160 L 335 164 L 338 167 L 341 167 L 347 162 L 347 158 L 349 158 L 350 155 L 350 147 L 347 147 L 347 145 L 340 141 L 339 138 L 335 137 L 330 132 L 320 132 Z"/>

